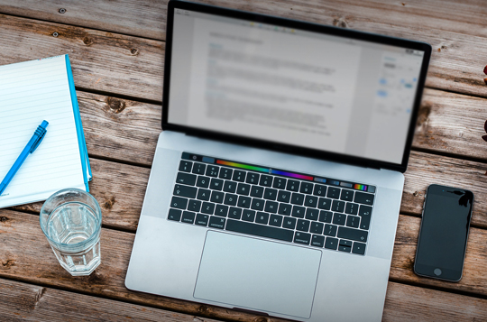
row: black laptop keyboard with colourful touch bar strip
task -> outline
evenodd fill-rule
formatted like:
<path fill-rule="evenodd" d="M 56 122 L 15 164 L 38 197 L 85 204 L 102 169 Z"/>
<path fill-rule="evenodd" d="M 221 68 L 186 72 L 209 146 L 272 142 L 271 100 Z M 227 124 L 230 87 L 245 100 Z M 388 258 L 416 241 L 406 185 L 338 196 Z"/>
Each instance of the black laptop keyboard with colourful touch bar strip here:
<path fill-rule="evenodd" d="M 169 220 L 363 255 L 375 187 L 183 152 Z"/>

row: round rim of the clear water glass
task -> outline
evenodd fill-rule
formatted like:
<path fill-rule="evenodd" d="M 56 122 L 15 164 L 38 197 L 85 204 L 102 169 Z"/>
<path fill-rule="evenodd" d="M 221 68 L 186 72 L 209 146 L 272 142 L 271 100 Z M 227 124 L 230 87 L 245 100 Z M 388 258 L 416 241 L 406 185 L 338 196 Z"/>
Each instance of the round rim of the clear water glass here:
<path fill-rule="evenodd" d="M 44 210 L 44 206 L 48 203 L 48 201 L 51 201 L 52 198 L 56 198 L 60 194 L 62 194 L 64 192 L 67 192 L 67 191 L 80 192 L 81 194 L 84 194 L 88 198 L 90 198 L 94 202 L 94 204 L 95 204 L 95 209 L 93 209 L 92 207 L 90 207 L 88 205 L 86 205 L 86 206 L 89 207 L 90 209 L 92 209 L 95 212 L 95 215 L 96 215 L 95 216 L 95 219 L 96 219 L 96 229 L 93 232 L 93 234 L 91 234 L 87 239 L 85 239 L 82 242 L 78 242 L 76 244 L 59 243 L 59 242 L 56 242 L 56 241 L 52 240 L 52 238 L 47 234 L 47 232 L 44 229 L 44 226 L 42 225 L 42 212 Z M 49 216 L 51 216 L 51 214 L 49 214 Z M 47 216 L 47 217 L 49 217 L 49 216 Z M 75 250 L 78 247 L 81 247 L 83 245 L 93 243 L 93 241 L 99 237 L 99 235 L 101 233 L 101 225 L 102 225 L 102 212 L 101 212 L 100 205 L 98 205 L 98 201 L 96 201 L 96 198 L 93 197 L 89 192 L 87 192 L 85 190 L 82 190 L 82 189 L 78 189 L 78 188 L 60 189 L 59 191 L 54 192 L 49 198 L 46 199 L 46 201 L 44 201 L 44 204 L 41 207 L 41 212 L 39 213 L 39 223 L 41 225 L 42 233 L 46 236 L 46 238 L 48 239 L 48 242 L 49 242 L 49 244 L 51 244 L 51 246 L 54 246 L 57 249 L 63 248 L 63 249 Z"/>

